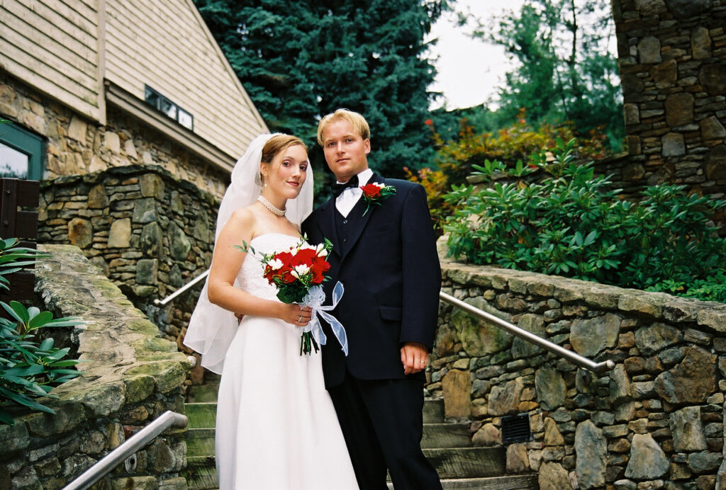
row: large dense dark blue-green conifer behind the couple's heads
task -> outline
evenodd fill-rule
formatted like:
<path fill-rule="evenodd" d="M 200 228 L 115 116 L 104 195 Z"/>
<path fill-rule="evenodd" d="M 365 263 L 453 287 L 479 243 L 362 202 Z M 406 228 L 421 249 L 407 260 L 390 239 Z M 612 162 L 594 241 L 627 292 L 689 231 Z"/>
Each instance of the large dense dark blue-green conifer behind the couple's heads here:
<path fill-rule="evenodd" d="M 371 166 L 389 176 L 432 156 L 424 124 L 436 74 L 424 36 L 451 0 L 195 0 L 267 125 L 314 149 L 339 107 L 371 125 Z"/>

